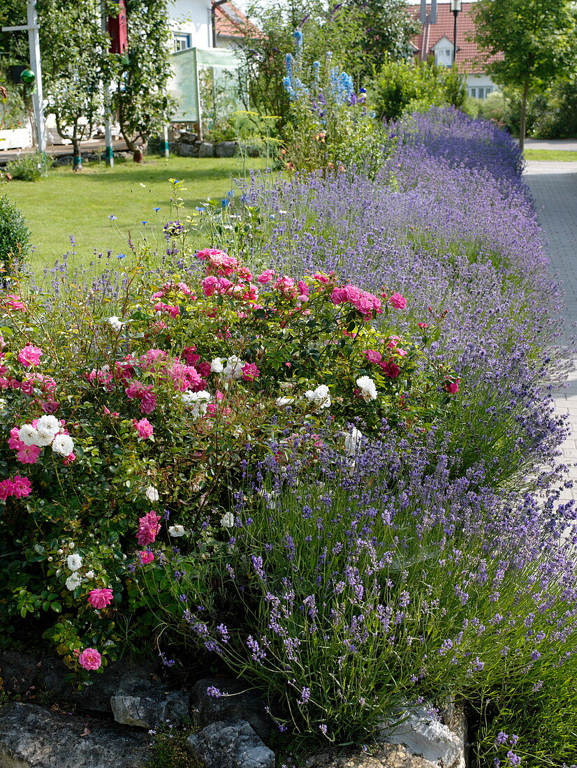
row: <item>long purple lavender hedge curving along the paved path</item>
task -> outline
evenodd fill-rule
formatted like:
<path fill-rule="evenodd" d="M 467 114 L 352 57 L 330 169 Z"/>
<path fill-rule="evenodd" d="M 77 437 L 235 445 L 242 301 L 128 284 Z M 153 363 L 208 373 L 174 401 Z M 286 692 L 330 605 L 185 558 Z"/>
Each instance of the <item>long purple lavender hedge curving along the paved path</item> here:
<path fill-rule="evenodd" d="M 479 713 L 473 765 L 564 766 L 577 589 L 550 397 L 562 293 L 509 136 L 441 109 L 393 133 L 372 180 L 255 180 L 252 257 L 394 286 L 402 331 L 444 316 L 433 351 L 459 373 L 456 407 L 423 439 L 385 430 L 353 467 L 325 452 L 320 478 L 269 462 L 238 496 L 227 565 L 244 627 L 185 620 L 303 734 L 360 739 L 400 702 L 457 697 Z"/>

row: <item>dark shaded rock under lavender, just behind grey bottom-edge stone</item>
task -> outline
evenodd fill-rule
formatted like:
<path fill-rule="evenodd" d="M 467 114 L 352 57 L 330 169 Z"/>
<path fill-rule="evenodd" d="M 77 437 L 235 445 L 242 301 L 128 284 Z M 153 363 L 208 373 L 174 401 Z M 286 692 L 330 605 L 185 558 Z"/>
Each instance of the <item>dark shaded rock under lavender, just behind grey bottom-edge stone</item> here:
<path fill-rule="evenodd" d="M 217 688 L 220 697 L 209 696 L 207 688 Z M 265 710 L 266 703 L 247 690 L 238 680 L 207 677 L 198 680 L 191 690 L 191 707 L 198 710 L 201 725 L 215 720 L 246 720 L 261 739 L 270 737 L 273 723 Z"/>

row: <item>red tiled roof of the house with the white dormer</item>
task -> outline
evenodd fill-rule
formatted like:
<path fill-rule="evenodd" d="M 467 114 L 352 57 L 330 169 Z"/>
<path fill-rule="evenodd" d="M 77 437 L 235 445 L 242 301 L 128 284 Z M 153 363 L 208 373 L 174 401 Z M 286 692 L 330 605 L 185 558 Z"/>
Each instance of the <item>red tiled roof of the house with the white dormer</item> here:
<path fill-rule="evenodd" d="M 463 74 L 482 74 L 486 71 L 487 62 L 502 58 L 502 54 L 487 56 L 479 51 L 479 47 L 473 42 L 472 38 L 475 31 L 473 8 L 475 5 L 474 2 L 464 2 L 457 16 L 456 62 L 459 72 Z M 418 17 L 418 6 L 413 6 L 410 10 Z M 433 47 L 443 37 L 448 38 L 453 43 L 453 23 L 454 16 L 449 3 L 439 3 L 437 5 L 436 24 L 424 25 L 423 31 L 412 40 L 416 48 L 416 55 L 419 55 L 421 59 L 428 58 L 433 53 Z"/>

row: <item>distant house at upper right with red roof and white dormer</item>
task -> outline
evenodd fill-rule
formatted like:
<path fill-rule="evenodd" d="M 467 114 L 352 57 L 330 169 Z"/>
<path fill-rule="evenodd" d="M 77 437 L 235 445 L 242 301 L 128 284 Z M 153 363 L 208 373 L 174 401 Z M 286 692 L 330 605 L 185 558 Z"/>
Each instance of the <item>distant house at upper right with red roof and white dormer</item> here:
<path fill-rule="evenodd" d="M 459 72 L 466 75 L 467 95 L 486 98 L 492 91 L 499 90 L 486 74 L 486 63 L 495 61 L 500 55 L 487 58 L 473 41 L 474 8 L 474 2 L 463 2 L 457 15 L 456 65 Z M 422 31 L 411 42 L 416 58 L 426 61 L 433 56 L 436 65 L 450 67 L 453 65 L 455 17 L 449 2 L 439 2 L 436 10 L 436 22 L 430 23 L 428 13 Z M 413 12 L 418 15 L 418 8 Z"/>

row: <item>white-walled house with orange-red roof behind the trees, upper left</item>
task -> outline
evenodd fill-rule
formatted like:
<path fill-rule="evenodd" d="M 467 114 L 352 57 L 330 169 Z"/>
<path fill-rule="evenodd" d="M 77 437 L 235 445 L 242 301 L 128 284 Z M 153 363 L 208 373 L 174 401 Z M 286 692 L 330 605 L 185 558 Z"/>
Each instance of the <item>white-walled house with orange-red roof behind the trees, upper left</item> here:
<path fill-rule="evenodd" d="M 258 33 L 230 0 L 171 0 L 168 6 L 174 51 L 187 48 L 236 48 L 245 30 Z"/>

